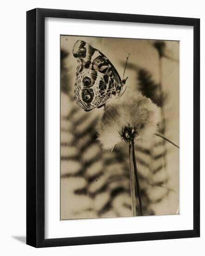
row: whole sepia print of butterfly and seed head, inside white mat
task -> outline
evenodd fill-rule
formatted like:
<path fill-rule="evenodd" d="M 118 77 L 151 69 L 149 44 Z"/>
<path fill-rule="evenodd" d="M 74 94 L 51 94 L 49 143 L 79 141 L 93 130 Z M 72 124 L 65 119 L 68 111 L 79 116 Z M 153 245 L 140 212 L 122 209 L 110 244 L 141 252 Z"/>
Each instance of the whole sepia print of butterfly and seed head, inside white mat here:
<path fill-rule="evenodd" d="M 60 47 L 61 220 L 179 214 L 179 41 Z"/>

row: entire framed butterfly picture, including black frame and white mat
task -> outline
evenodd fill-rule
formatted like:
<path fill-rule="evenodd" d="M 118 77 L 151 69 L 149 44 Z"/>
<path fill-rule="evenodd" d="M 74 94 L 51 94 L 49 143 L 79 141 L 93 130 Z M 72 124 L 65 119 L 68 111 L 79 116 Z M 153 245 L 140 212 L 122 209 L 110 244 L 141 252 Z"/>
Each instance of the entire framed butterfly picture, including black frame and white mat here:
<path fill-rule="evenodd" d="M 200 20 L 26 17 L 26 243 L 199 237 Z"/>

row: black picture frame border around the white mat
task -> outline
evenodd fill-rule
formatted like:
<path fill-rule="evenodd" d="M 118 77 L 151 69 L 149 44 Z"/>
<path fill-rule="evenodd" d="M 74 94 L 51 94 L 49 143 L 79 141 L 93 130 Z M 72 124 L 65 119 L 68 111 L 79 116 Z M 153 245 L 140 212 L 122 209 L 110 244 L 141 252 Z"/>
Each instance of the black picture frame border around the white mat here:
<path fill-rule="evenodd" d="M 193 27 L 194 105 L 192 230 L 45 239 L 45 17 L 140 22 Z M 33 247 L 51 247 L 199 237 L 200 19 L 37 8 L 26 13 L 26 21 L 26 243 Z"/>

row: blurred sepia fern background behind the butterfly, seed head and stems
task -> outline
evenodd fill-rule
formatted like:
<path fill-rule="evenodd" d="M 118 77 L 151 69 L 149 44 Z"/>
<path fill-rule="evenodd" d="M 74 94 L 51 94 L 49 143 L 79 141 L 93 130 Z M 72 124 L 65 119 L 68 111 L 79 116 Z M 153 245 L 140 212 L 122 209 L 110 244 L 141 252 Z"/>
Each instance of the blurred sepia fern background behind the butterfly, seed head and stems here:
<path fill-rule="evenodd" d="M 128 147 L 113 152 L 96 141 L 103 108 L 85 112 L 74 101 L 77 59 L 85 40 L 126 74 L 126 94 L 141 92 L 162 109 L 160 133 L 179 145 L 179 42 L 61 36 L 61 220 L 132 216 Z M 144 215 L 179 213 L 179 149 L 156 137 L 136 145 Z M 139 214 L 139 212 L 138 212 Z"/>

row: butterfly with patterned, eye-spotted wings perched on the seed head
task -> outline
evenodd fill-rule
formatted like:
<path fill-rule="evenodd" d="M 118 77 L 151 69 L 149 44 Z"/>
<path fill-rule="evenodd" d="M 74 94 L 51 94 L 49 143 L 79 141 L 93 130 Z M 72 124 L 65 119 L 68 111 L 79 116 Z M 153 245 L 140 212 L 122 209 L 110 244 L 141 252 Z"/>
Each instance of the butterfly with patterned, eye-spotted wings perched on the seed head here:
<path fill-rule="evenodd" d="M 85 111 L 101 108 L 112 97 L 122 96 L 127 78 L 120 78 L 104 54 L 85 41 L 77 40 L 73 56 L 78 62 L 74 98 L 81 108 Z"/>

